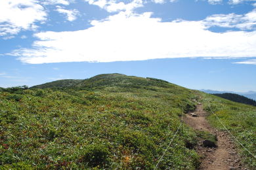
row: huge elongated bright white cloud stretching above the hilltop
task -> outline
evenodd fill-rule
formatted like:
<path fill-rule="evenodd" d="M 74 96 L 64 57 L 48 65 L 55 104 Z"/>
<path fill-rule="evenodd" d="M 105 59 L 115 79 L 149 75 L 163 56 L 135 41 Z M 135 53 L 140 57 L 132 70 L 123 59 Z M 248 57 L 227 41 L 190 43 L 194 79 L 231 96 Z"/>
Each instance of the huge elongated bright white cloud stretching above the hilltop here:
<path fill-rule="evenodd" d="M 151 13 L 119 12 L 80 31 L 35 34 L 33 48 L 14 50 L 24 63 L 135 61 L 256 56 L 256 31 L 213 33 L 203 21 L 161 22 Z"/>

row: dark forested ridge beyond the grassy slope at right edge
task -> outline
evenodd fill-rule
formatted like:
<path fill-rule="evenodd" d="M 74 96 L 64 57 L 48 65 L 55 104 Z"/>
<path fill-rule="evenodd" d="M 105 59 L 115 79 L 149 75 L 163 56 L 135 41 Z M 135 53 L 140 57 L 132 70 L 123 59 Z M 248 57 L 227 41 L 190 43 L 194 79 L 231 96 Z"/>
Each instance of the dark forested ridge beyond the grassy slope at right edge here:
<path fill-rule="evenodd" d="M 222 97 L 224 99 L 228 99 L 230 101 L 236 101 L 238 103 L 244 103 L 246 105 L 252 105 L 256 106 L 256 101 L 253 99 L 248 99 L 247 97 L 244 97 L 243 95 L 238 95 L 235 93 L 216 93 L 213 95 L 217 95 L 219 97 Z"/>

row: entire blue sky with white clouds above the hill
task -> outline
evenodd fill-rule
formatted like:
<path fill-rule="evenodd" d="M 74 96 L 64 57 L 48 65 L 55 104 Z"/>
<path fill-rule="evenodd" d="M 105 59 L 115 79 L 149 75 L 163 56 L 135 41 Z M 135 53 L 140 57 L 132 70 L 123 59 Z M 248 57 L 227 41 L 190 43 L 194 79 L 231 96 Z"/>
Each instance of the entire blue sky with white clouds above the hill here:
<path fill-rule="evenodd" d="M 0 1 L 0 86 L 102 73 L 256 91 L 256 1 Z"/>

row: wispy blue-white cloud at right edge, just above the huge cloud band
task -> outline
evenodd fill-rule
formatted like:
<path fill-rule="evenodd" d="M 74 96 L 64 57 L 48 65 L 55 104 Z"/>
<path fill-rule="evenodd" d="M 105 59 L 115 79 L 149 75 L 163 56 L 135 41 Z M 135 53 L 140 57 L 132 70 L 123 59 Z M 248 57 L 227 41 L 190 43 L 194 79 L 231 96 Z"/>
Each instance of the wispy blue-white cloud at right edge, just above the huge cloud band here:
<path fill-rule="evenodd" d="M 236 27 L 238 29 L 254 29 L 256 26 L 256 9 L 247 14 L 215 14 L 204 20 L 205 25 L 219 27 Z"/>

